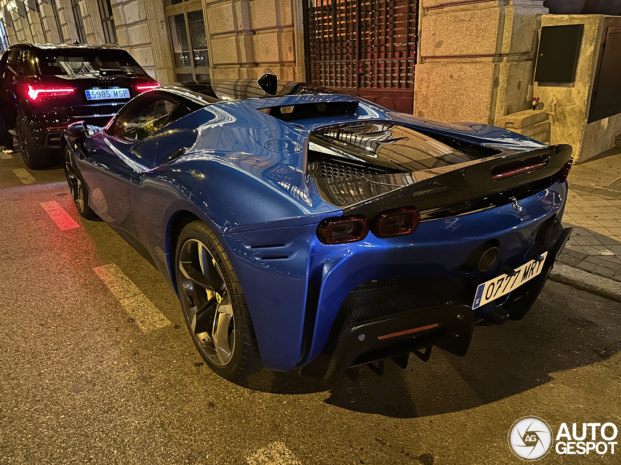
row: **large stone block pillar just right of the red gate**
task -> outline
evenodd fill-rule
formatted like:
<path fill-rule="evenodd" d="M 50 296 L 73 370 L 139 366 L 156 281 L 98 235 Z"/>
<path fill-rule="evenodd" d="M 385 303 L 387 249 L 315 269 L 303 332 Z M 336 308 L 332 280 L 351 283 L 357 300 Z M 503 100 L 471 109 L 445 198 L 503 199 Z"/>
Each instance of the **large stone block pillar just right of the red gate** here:
<path fill-rule="evenodd" d="M 543 0 L 421 0 L 414 114 L 495 125 L 532 98 Z"/>

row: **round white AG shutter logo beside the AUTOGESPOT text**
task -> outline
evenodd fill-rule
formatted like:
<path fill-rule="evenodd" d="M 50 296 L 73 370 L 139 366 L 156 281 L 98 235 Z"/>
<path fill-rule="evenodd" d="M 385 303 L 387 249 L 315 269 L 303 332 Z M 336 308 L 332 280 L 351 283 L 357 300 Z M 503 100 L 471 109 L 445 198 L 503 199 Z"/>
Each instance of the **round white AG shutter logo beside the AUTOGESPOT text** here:
<path fill-rule="evenodd" d="M 509 430 L 509 447 L 518 458 L 534 462 L 545 456 L 552 445 L 552 434 L 545 420 L 522 417 Z"/>

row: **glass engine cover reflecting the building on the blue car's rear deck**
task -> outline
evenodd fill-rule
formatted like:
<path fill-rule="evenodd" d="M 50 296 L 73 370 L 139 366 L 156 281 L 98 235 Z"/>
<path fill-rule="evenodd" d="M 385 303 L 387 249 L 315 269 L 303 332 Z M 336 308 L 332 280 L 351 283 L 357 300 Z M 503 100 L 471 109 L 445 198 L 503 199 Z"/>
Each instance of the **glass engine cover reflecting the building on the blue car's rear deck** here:
<path fill-rule="evenodd" d="M 315 131 L 309 139 L 309 151 L 410 172 L 473 159 L 429 136 L 391 123 L 353 123 Z"/>

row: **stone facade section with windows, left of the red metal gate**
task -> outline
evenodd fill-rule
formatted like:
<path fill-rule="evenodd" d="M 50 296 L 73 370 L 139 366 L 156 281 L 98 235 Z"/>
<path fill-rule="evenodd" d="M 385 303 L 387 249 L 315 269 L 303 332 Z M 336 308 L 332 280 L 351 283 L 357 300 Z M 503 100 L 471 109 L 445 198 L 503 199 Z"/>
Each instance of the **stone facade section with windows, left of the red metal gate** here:
<path fill-rule="evenodd" d="M 265 73 L 289 80 L 306 78 L 299 1 L 16 1 L 25 8 L 11 9 L 6 7 L 11 5 L 10 1 L 0 2 L 9 43 L 75 42 L 80 37 L 81 21 L 84 36 L 81 42 L 117 43 L 163 84 L 187 78 L 188 74 L 193 78 L 208 75 L 215 79 L 258 78 Z M 104 32 L 106 4 L 112 10 L 116 37 L 106 36 Z M 76 7 L 79 19 L 76 19 Z M 202 24 L 197 24 L 196 19 Z M 191 29 L 179 31 L 186 25 Z M 201 40 L 204 45 L 197 45 Z M 206 49 L 202 52 L 206 58 L 203 61 L 207 61 L 203 69 L 194 66 L 196 60 L 191 56 L 178 60 L 179 54 L 192 55 L 189 48 L 199 47 Z"/>

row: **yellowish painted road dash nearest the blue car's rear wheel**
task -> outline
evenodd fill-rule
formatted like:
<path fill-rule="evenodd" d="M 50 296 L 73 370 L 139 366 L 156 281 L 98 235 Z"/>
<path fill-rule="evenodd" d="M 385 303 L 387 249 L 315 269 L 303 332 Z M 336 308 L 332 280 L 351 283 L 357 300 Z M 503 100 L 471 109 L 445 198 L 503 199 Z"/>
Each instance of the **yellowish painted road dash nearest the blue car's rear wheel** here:
<path fill-rule="evenodd" d="M 135 319 L 136 324 L 143 332 L 170 325 L 170 321 L 138 289 L 138 286 L 123 274 L 117 265 L 111 263 L 110 265 L 93 268 L 93 270 L 104 281 L 104 284 L 118 299 L 127 313 Z"/>

